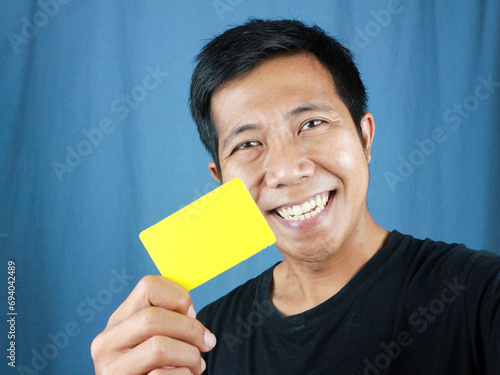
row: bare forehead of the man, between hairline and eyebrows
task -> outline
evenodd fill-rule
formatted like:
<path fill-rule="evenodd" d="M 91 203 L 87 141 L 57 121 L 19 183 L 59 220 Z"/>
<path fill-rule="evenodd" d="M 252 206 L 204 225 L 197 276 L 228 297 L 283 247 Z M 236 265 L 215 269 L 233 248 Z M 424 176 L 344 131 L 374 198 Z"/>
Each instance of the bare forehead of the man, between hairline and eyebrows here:
<path fill-rule="evenodd" d="M 212 96 L 211 110 L 220 131 L 226 121 L 257 112 L 289 111 L 317 100 L 341 105 L 328 69 L 312 54 L 300 53 L 271 58 L 225 83 Z"/>

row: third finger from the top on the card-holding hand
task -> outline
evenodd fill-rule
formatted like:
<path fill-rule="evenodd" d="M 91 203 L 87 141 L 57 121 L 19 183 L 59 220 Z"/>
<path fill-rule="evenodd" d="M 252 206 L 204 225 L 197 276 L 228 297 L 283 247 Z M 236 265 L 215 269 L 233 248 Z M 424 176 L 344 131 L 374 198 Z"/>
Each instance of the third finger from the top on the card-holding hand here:
<path fill-rule="evenodd" d="M 148 374 L 162 366 L 185 367 L 195 375 L 204 370 L 196 347 L 164 336 L 151 337 L 122 354 L 107 370 L 110 374 Z"/>

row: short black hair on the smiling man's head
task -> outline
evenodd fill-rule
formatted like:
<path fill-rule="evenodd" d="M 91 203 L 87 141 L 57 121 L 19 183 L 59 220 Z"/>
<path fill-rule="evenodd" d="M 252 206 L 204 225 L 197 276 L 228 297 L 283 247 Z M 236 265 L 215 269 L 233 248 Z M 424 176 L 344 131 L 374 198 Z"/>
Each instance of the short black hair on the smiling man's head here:
<path fill-rule="evenodd" d="M 314 55 L 329 70 L 364 145 L 361 118 L 366 112 L 367 94 L 351 52 L 316 25 L 308 26 L 298 20 L 251 19 L 207 43 L 196 57 L 197 66 L 191 78 L 191 115 L 219 177 L 219 141 L 211 115 L 212 95 L 222 84 L 265 60 L 301 52 Z"/>

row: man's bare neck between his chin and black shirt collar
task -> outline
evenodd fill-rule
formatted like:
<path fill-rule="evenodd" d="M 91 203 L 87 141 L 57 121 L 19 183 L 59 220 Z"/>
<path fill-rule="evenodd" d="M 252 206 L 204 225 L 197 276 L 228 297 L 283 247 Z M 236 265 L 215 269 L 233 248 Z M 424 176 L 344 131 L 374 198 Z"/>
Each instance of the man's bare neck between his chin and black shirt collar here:
<path fill-rule="evenodd" d="M 299 314 L 331 298 L 385 245 L 389 232 L 367 215 L 365 225 L 352 231 L 341 247 L 331 249 L 326 259 L 311 262 L 283 254 L 271 289 L 281 314 Z"/>

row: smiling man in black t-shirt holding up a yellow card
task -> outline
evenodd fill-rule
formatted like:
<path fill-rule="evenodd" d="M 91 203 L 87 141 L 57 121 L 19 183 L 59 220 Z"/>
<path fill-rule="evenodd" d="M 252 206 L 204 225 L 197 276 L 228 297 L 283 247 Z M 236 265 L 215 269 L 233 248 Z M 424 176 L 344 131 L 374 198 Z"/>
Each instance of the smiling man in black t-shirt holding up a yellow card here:
<path fill-rule="evenodd" d="M 93 342 L 97 374 L 500 374 L 500 257 L 372 219 L 375 123 L 342 45 L 298 21 L 228 30 L 198 56 L 191 110 L 284 261 L 197 317 L 145 277 Z"/>

